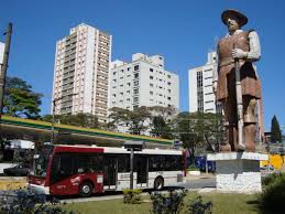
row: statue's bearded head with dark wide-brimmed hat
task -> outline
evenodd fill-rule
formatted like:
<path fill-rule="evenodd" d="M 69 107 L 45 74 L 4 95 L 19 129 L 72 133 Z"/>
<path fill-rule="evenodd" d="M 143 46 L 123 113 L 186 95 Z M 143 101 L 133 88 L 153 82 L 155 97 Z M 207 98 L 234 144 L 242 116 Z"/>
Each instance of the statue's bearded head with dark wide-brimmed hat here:
<path fill-rule="evenodd" d="M 228 26 L 230 33 L 248 23 L 248 18 L 238 10 L 224 10 L 221 13 L 221 20 Z"/>

